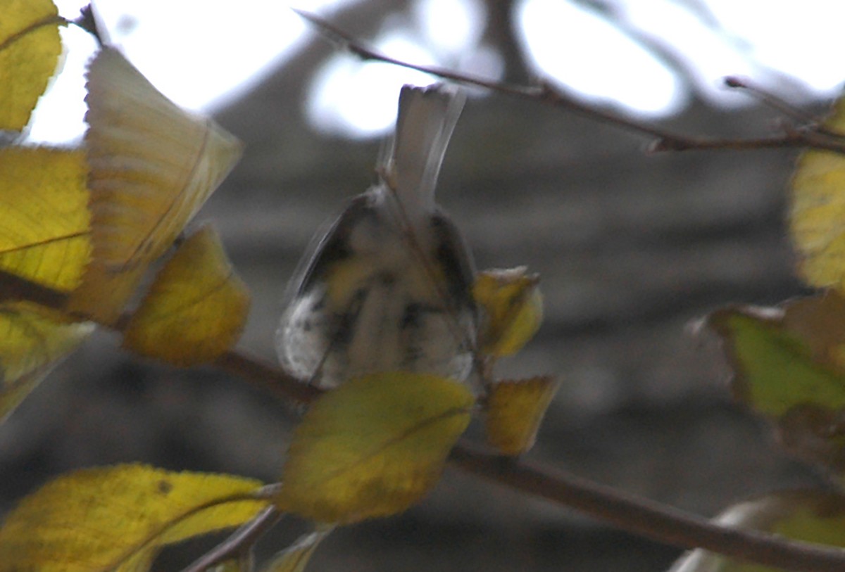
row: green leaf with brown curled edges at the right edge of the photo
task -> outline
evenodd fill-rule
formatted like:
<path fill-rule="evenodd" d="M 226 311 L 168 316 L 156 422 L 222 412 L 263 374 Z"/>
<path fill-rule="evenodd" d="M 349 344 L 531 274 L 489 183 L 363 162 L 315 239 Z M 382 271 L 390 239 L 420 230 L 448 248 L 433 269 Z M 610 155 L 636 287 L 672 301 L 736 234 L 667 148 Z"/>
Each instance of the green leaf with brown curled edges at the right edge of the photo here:
<path fill-rule="evenodd" d="M 835 293 L 781 308 L 719 310 L 708 324 L 723 339 L 740 402 L 768 418 L 780 445 L 805 461 L 845 472 L 845 321 Z"/>

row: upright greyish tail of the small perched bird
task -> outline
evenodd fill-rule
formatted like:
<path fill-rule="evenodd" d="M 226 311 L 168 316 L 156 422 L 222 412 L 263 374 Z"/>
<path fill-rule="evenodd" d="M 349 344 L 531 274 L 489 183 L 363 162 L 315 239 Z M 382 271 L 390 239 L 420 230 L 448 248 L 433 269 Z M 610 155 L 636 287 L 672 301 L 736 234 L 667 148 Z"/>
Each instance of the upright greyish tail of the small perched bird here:
<path fill-rule="evenodd" d="M 461 89 L 445 84 L 406 85 L 401 90 L 393 156 L 386 175 L 412 221 L 433 213 L 437 175 L 465 100 Z"/>

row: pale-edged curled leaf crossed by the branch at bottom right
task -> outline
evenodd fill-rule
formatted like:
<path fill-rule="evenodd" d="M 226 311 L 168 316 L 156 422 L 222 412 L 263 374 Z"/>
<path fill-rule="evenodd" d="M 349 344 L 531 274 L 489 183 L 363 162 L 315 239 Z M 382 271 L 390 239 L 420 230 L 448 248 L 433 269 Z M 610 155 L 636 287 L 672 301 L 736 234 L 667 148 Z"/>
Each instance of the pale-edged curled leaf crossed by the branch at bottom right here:
<path fill-rule="evenodd" d="M 792 540 L 845 547 L 845 497 L 803 489 L 769 494 L 734 505 L 715 519 L 730 528 L 769 532 Z M 701 548 L 684 554 L 670 572 L 785 572 L 729 559 Z"/>

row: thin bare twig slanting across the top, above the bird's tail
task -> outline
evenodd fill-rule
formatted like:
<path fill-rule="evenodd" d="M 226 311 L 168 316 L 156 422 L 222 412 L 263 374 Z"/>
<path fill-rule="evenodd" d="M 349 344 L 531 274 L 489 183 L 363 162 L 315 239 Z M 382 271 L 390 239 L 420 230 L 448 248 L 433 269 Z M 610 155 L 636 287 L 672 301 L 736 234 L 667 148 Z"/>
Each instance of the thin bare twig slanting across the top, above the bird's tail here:
<path fill-rule="evenodd" d="M 835 132 L 828 132 L 815 126 L 807 126 L 801 128 L 784 129 L 782 135 L 773 136 L 770 138 L 755 138 L 755 139 L 719 139 L 719 138 L 695 138 L 679 135 L 659 127 L 654 127 L 651 124 L 635 121 L 624 116 L 618 116 L 608 111 L 603 111 L 574 100 L 569 95 L 564 94 L 560 89 L 557 89 L 548 81 L 541 81 L 537 86 L 525 86 L 516 84 L 505 84 L 502 82 L 490 81 L 484 78 L 477 78 L 466 73 L 459 73 L 442 67 L 434 66 L 420 66 L 414 63 L 403 62 L 393 57 L 385 56 L 384 54 L 374 51 L 362 42 L 356 40 L 351 35 L 346 34 L 345 31 L 338 29 L 334 25 L 313 15 L 301 10 L 294 10 L 308 22 L 314 24 L 326 38 L 333 41 L 342 49 L 349 51 L 353 55 L 360 57 L 365 61 L 390 63 L 395 66 L 407 67 L 409 69 L 417 70 L 418 72 L 430 73 L 433 76 L 443 79 L 449 79 L 459 84 L 474 85 L 477 87 L 489 89 L 499 94 L 506 94 L 512 97 L 518 97 L 523 100 L 532 100 L 543 105 L 551 105 L 553 107 L 563 109 L 565 111 L 573 111 L 582 116 L 589 117 L 602 123 L 607 123 L 615 127 L 619 127 L 628 132 L 633 132 L 638 135 L 650 137 L 653 139 L 649 149 L 653 152 L 658 151 L 688 151 L 688 150 L 741 150 L 741 149 L 765 149 L 765 148 L 803 148 L 810 147 L 816 149 L 823 149 L 832 151 L 838 154 L 845 154 L 845 136 Z M 743 87 L 748 89 L 746 84 L 739 84 L 737 78 L 728 78 L 728 87 Z M 750 89 L 751 94 L 763 93 L 759 89 Z M 773 105 L 777 98 L 771 94 L 766 94 L 763 98 L 767 105 Z M 778 101 L 777 107 L 781 109 L 782 106 L 788 106 L 784 102 Z M 798 111 L 790 111 L 789 116 L 794 116 Z"/>

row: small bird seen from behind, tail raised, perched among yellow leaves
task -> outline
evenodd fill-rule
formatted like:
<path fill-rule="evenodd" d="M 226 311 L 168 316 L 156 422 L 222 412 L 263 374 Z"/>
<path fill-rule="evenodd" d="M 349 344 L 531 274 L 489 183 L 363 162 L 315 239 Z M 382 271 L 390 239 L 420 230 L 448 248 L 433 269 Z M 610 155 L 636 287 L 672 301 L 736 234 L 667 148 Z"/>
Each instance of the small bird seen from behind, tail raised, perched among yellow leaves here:
<path fill-rule="evenodd" d="M 328 389 L 383 371 L 472 372 L 472 256 L 434 202 L 465 99 L 444 84 L 401 89 L 379 181 L 313 243 L 289 287 L 276 350 L 290 374 Z"/>

